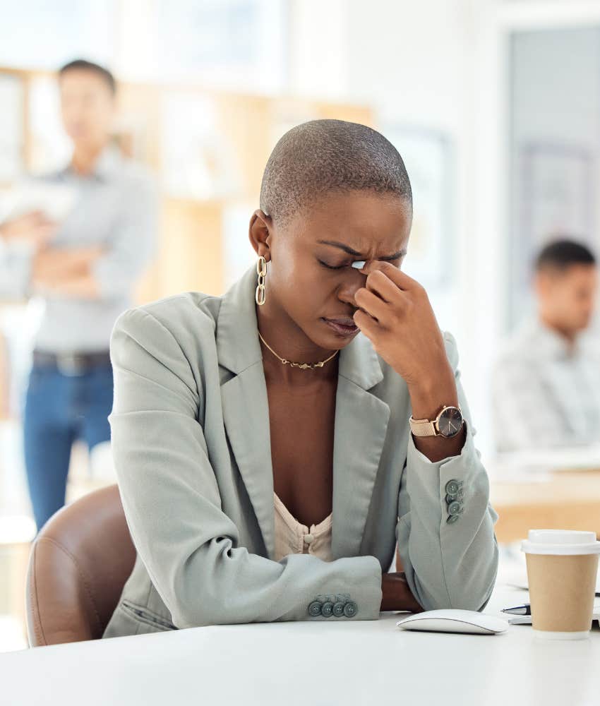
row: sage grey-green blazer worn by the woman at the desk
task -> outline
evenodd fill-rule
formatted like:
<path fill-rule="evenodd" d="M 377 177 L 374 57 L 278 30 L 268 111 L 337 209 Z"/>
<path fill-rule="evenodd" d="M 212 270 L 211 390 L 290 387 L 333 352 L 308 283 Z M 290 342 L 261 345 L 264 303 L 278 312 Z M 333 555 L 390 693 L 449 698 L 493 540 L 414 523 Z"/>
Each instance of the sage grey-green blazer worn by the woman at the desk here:
<path fill-rule="evenodd" d="M 396 542 L 425 609 L 483 609 L 496 580 L 498 515 L 459 373 L 467 441 L 460 456 L 432 463 L 409 433 L 404 380 L 361 333 L 339 360 L 334 561 L 274 560 L 255 287 L 250 268 L 222 297 L 179 294 L 129 309 L 114 326 L 109 421 L 138 556 L 104 637 L 219 623 L 375 620 Z M 445 344 L 456 370 L 449 334 Z M 448 522 L 452 480 L 462 483 L 462 513 Z M 353 606 L 326 617 L 320 604 L 328 599 Z"/>

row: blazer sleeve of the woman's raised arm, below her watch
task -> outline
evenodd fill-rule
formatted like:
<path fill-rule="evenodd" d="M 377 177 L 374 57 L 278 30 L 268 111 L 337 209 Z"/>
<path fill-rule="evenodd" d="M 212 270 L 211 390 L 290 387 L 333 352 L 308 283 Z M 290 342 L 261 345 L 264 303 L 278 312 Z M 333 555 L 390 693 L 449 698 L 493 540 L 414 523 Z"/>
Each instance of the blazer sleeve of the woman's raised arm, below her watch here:
<path fill-rule="evenodd" d="M 466 440 L 460 455 L 433 463 L 417 450 L 409 435 L 396 537 L 408 585 L 424 609 L 481 611 L 498 571 L 493 530 L 498 514 L 489 503 L 488 476 L 473 442 L 475 431 L 460 383 L 455 340 L 450 333 L 444 337 L 466 421 Z M 462 511 L 454 522 L 448 522 L 446 486 L 450 481 L 462 484 L 458 498 Z"/>

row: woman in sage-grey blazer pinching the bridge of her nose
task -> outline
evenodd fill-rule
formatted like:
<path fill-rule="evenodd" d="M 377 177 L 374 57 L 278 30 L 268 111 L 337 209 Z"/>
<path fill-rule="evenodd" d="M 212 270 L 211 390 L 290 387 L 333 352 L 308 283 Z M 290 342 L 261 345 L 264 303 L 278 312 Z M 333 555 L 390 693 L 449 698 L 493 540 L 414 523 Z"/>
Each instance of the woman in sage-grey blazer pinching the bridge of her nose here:
<path fill-rule="evenodd" d="M 486 605 L 497 515 L 454 340 L 399 269 L 411 221 L 388 140 L 311 121 L 267 164 L 256 270 L 119 318 L 109 420 L 138 558 L 104 637 Z"/>

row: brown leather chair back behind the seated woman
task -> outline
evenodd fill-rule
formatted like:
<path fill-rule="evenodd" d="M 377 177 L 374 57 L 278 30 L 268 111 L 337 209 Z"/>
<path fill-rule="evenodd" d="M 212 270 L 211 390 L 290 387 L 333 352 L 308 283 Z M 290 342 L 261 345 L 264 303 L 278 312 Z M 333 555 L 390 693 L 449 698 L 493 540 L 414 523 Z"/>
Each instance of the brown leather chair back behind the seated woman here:
<path fill-rule="evenodd" d="M 30 646 L 101 638 L 135 561 L 116 485 L 52 515 L 29 558 Z"/>

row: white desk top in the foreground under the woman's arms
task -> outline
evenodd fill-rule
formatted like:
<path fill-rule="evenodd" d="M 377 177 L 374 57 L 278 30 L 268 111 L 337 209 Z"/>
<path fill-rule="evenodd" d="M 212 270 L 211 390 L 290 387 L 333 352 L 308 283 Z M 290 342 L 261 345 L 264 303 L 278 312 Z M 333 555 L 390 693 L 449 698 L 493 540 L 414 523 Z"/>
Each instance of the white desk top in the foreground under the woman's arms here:
<path fill-rule="evenodd" d="M 486 612 L 527 598 L 496 590 Z M 7 706 L 580 706 L 600 702 L 600 630 L 547 642 L 378 621 L 211 626 L 0 654 Z"/>

